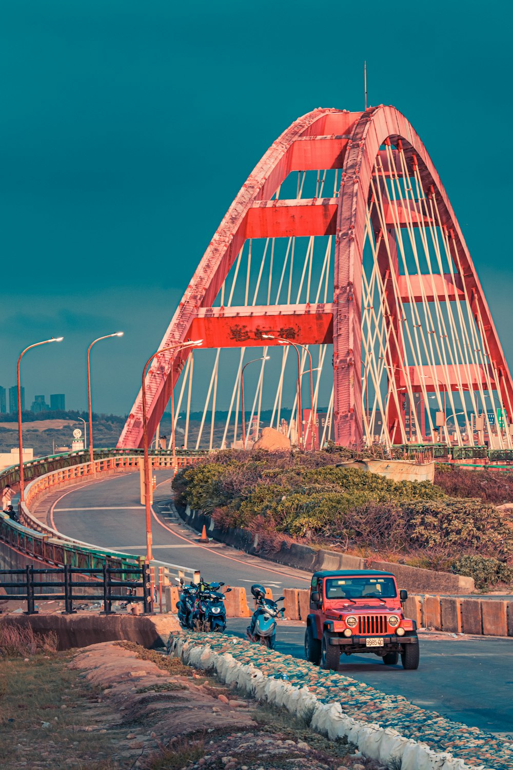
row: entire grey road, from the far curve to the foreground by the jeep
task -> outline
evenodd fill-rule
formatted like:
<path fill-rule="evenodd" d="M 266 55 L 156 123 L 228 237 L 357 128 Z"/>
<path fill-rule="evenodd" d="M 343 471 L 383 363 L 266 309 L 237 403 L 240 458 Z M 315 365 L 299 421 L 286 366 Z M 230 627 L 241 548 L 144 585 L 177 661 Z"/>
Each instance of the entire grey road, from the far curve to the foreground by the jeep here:
<path fill-rule="evenodd" d="M 154 557 L 199 568 L 206 580 L 246 588 L 260 582 L 279 593 L 306 588 L 311 575 L 252 557 L 224 544 L 203 546 L 171 511 L 168 471 L 157 472 L 153 506 Z M 158 513 L 157 513 L 158 511 Z M 79 540 L 145 554 L 145 509 L 139 502 L 139 475 L 123 474 L 68 490 L 52 505 L 55 529 Z M 248 621 L 230 618 L 228 631 L 245 635 Z M 278 629 L 278 650 L 302 657 L 304 626 L 285 622 Z M 451 639 L 451 641 L 446 641 Z M 429 711 L 481 730 L 510 733 L 513 725 L 513 640 L 499 638 L 433 638 L 421 634 L 421 666 L 404 671 L 385 666 L 373 655 L 342 658 L 341 672 L 378 690 L 404 695 Z"/>

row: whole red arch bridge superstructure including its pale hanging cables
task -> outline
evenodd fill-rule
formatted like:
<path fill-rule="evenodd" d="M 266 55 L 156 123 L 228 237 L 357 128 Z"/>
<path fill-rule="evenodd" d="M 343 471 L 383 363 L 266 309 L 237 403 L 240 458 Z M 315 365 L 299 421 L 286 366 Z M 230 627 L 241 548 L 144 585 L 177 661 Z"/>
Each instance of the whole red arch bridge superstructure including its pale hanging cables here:
<path fill-rule="evenodd" d="M 513 383 L 485 295 L 435 166 L 394 107 L 316 109 L 276 139 L 160 348 L 187 340 L 202 346 L 158 354 L 145 380 L 148 433 L 171 399 L 185 448 L 240 442 L 251 361 L 248 428 L 305 447 L 511 450 Z M 138 393 L 118 447 L 141 446 Z"/>

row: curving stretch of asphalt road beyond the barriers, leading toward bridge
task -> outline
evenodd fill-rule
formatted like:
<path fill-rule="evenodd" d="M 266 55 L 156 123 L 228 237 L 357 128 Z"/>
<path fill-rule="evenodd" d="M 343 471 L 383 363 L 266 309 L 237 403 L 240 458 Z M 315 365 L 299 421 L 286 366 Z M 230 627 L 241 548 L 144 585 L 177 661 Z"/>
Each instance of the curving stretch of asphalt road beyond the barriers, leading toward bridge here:
<path fill-rule="evenodd" d="M 198 534 L 168 511 L 169 472 L 157 471 L 152 534 L 158 561 L 200 569 L 207 581 L 249 588 L 263 583 L 274 592 L 306 588 L 311 575 L 252 557 L 225 544 L 198 544 Z M 145 508 L 140 503 L 139 474 L 123 474 L 73 487 L 52 506 L 50 523 L 62 534 L 129 554 L 146 551 Z"/>

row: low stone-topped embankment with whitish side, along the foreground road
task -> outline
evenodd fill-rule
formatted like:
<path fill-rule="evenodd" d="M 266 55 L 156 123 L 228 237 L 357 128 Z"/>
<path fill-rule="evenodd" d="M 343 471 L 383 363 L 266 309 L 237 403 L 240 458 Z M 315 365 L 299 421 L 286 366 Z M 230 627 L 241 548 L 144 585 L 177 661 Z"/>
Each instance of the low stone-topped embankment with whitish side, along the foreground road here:
<path fill-rule="evenodd" d="M 248 695 L 302 715 L 328 738 L 347 738 L 368 757 L 401 770 L 505 770 L 513 743 L 385 695 L 364 682 L 218 634 L 171 637 L 168 652 Z"/>

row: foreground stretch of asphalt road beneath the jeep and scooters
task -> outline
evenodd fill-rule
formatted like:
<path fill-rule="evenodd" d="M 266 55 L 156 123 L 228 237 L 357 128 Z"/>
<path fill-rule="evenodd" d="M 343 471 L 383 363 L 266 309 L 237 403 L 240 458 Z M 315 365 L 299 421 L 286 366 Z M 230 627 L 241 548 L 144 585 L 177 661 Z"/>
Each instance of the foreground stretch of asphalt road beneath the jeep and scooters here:
<path fill-rule="evenodd" d="M 227 633 L 246 638 L 248 620 L 228 618 Z M 498 638 L 420 638 L 421 663 L 417 671 L 385 666 L 375 655 L 343 655 L 340 673 L 388 695 L 437 711 L 448 719 L 486 732 L 513 735 L 513 641 Z M 449 636 L 449 634 L 447 634 Z M 304 657 L 305 626 L 279 624 L 276 649 Z"/>

